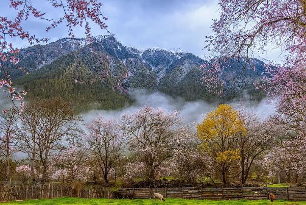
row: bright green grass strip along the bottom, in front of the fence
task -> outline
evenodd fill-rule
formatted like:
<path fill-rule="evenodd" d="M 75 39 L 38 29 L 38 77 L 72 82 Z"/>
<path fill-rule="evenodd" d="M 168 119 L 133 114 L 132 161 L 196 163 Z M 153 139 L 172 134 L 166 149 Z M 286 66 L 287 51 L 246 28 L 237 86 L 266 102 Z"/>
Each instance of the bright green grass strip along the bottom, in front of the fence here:
<path fill-rule="evenodd" d="M 26 200 L 26 201 L 16 201 L 4 204 L 42 204 L 42 205 L 52 205 L 52 204 L 251 204 L 251 205 L 264 205 L 264 204 L 305 204 L 306 201 L 285 201 L 285 200 L 275 200 L 271 203 L 269 200 L 191 200 L 191 199 L 180 199 L 180 198 L 167 198 L 166 201 L 153 201 L 153 199 L 81 199 L 81 198 L 71 198 L 71 197 L 61 197 L 55 199 L 40 199 L 40 200 Z"/>

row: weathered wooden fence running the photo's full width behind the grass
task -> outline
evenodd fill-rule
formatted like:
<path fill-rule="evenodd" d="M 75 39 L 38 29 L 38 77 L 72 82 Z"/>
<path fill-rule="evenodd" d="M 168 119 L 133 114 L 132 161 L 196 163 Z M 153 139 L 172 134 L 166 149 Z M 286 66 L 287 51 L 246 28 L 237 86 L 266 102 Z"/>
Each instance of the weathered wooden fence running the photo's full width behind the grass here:
<path fill-rule="evenodd" d="M 57 198 L 62 196 L 79 198 L 152 198 L 155 192 L 161 193 L 164 197 L 187 199 L 267 199 L 269 193 L 273 193 L 276 199 L 306 200 L 304 187 L 243 187 L 227 189 L 196 189 L 195 187 L 158 189 L 124 188 L 114 192 L 100 186 L 77 188 L 49 183 L 42 187 L 0 186 L 0 201 Z"/>

